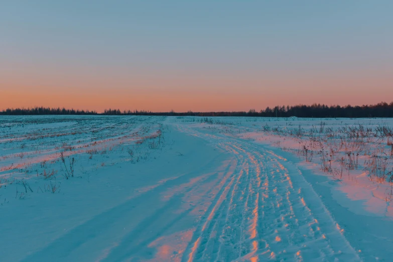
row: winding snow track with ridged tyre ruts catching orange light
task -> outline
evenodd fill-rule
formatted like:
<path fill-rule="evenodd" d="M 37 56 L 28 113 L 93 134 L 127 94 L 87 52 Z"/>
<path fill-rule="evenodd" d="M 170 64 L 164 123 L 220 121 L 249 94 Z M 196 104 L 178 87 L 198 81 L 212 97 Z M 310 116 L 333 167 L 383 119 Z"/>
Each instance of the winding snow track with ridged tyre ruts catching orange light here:
<path fill-rule="evenodd" d="M 185 131 L 232 153 L 236 165 L 222 179 L 183 261 L 360 260 L 286 159 L 248 142 Z"/>

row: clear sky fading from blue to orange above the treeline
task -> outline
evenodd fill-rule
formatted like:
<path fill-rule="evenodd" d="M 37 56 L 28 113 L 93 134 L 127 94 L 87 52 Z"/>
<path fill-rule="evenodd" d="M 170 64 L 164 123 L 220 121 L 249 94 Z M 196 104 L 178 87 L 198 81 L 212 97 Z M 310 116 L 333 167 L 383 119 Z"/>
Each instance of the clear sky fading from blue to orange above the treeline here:
<path fill-rule="evenodd" d="M 393 100 L 393 1 L 3 1 L 0 109 Z"/>

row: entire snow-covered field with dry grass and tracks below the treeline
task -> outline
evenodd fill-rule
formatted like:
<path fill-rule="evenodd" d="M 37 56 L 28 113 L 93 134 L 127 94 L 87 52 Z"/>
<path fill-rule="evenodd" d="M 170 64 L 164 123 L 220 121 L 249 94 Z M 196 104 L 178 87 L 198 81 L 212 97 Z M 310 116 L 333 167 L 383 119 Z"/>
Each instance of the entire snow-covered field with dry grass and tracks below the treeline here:
<path fill-rule="evenodd" d="M 0 261 L 391 261 L 392 128 L 1 116 Z"/>

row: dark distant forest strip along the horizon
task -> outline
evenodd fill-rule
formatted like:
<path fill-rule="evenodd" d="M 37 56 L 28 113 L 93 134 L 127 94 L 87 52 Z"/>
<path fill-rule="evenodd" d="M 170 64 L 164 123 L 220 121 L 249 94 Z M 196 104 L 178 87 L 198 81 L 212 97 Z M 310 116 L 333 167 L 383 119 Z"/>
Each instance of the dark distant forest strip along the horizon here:
<path fill-rule="evenodd" d="M 89 110 L 75 110 L 65 108 L 33 107 L 8 108 L 0 111 L 0 115 L 175 115 L 175 116 L 265 116 L 265 117 L 393 117 L 393 102 L 380 102 L 374 105 L 340 106 L 340 105 L 292 105 L 267 107 L 265 110 L 254 109 L 237 112 L 151 112 L 145 110 L 105 109 L 103 113 Z"/>

